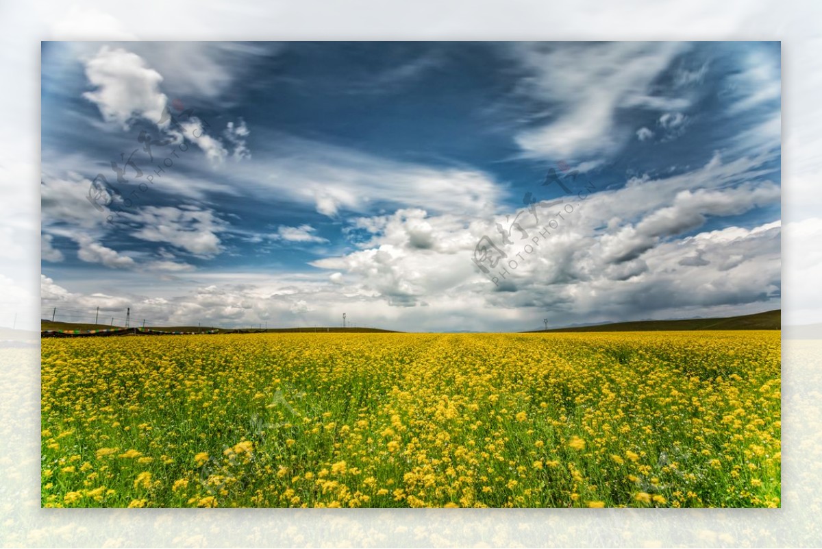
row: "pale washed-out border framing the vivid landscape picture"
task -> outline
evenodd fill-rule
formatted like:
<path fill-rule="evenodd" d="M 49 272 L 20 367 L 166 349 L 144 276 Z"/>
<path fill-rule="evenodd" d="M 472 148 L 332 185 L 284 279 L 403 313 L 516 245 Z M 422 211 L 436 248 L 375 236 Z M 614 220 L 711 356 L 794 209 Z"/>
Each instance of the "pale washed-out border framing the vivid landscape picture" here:
<path fill-rule="evenodd" d="M 820 21 L 822 3 L 802 0 L 2 2 L 0 330 L 39 325 L 39 56 L 52 39 L 781 40 L 783 324 L 822 322 Z M 0 343 L 3 546 L 822 544 L 820 341 L 783 341 L 781 510 L 42 510 L 39 348 L 29 339 Z"/>

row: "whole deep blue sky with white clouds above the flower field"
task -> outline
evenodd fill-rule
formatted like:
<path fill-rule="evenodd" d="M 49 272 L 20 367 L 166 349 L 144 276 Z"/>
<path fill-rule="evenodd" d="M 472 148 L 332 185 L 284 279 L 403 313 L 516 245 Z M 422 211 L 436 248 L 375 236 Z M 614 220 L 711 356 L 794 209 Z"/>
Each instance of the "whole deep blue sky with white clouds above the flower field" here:
<path fill-rule="evenodd" d="M 778 43 L 44 43 L 43 316 L 778 308 L 780 72 Z"/>

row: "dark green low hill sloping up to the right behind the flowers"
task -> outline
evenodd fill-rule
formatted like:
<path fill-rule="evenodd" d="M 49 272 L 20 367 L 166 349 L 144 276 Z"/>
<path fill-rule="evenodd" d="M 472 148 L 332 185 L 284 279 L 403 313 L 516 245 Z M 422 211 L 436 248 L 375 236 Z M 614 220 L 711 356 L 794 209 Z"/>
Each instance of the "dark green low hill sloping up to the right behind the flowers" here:
<path fill-rule="evenodd" d="M 754 315 L 724 318 L 689 318 L 679 321 L 613 322 L 592 326 L 552 328 L 549 332 L 644 332 L 677 330 L 780 330 L 782 310 L 758 312 Z M 529 330 L 544 332 L 546 330 Z"/>

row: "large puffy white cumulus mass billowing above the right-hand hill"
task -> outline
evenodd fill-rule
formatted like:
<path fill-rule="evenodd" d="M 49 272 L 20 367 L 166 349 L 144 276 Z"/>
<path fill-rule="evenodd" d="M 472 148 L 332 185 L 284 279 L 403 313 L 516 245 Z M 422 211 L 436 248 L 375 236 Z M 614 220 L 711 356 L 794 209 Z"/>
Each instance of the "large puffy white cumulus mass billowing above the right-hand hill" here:
<path fill-rule="evenodd" d="M 357 242 L 363 249 L 312 265 L 345 273 L 349 284 L 392 307 L 436 307 L 441 299 L 473 298 L 481 303 L 478 307 L 520 308 L 520 313 L 533 307 L 534 314 L 547 307 L 580 319 L 604 315 L 607 308 L 610 317 L 603 321 L 639 311 L 676 315 L 677 307 L 725 312 L 750 303 L 766 307 L 769 301 L 778 303 L 778 222 L 679 236 L 711 216 L 778 203 L 778 186 L 749 181 L 761 175 L 757 165 L 752 159 L 723 164 L 715 157 L 690 173 L 641 178 L 615 191 L 594 192 L 538 244 L 532 239 L 545 231 L 544 221 L 536 223 L 524 209 L 507 222 L 504 217 L 482 221 L 418 209 L 358 218 L 351 230 L 368 235 Z M 510 219 L 518 219 L 522 231 L 513 230 L 510 243 L 504 244 L 496 224 L 506 229 Z M 603 226 L 603 219 L 611 223 Z M 506 261 L 515 261 L 515 270 L 503 261 L 483 275 L 471 263 L 483 236 L 501 247 Z M 524 251 L 526 244 L 533 251 Z M 723 261 L 731 257 L 732 262 Z M 508 271 L 505 277 L 502 270 Z M 690 270 L 698 270 L 698 276 Z M 497 285 L 489 281 L 492 276 Z M 612 299 L 620 306 L 607 305 Z"/>

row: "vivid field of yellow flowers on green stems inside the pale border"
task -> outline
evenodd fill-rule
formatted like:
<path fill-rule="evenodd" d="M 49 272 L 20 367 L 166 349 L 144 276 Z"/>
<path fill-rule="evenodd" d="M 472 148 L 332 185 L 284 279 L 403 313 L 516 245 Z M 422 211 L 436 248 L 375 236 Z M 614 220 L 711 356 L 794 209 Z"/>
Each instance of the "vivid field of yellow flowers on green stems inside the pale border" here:
<path fill-rule="evenodd" d="M 772 331 L 43 339 L 47 507 L 768 507 Z"/>

